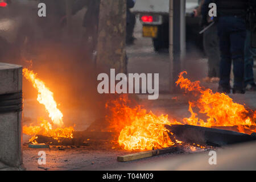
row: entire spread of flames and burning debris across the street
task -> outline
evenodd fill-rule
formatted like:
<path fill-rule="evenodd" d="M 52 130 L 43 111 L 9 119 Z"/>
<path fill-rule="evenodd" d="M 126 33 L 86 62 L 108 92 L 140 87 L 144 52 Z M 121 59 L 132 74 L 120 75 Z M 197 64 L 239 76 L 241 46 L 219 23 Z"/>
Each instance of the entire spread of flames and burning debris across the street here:
<path fill-rule="evenodd" d="M 88 142 L 93 138 L 96 140 L 105 138 L 118 144 L 123 150 L 152 150 L 152 154 L 155 154 L 155 150 L 170 147 L 183 147 L 185 151 L 207 150 L 207 145 L 210 143 L 183 140 L 179 135 L 176 136 L 177 132 L 172 130 L 172 126 L 193 125 L 208 128 L 229 127 L 229 129 L 235 127 L 241 133 L 255 132 L 255 111 L 233 102 L 232 98 L 224 93 L 213 93 L 212 90 L 201 87 L 199 81 L 191 82 L 183 77 L 184 73 L 186 72 L 180 73 L 176 84 L 181 89 L 185 89 L 185 92 L 191 92 L 196 98 L 194 101 L 189 101 L 190 118 L 184 118 L 179 122 L 174 118 L 168 118 L 168 115 L 157 116 L 152 111 L 142 109 L 140 105 L 131 106 L 133 103 L 123 94 L 106 103 L 108 114 L 104 119 L 99 120 L 104 129 L 93 130 L 93 127 L 89 127 L 86 131 L 78 132 L 73 127 L 64 127 L 63 114 L 57 109 L 53 93 L 44 82 L 34 72 L 23 69 L 24 77 L 38 90 L 38 101 L 46 107 L 51 118 L 51 122 L 39 118 L 38 125 L 24 126 L 23 133 L 32 136 L 31 143 L 73 145 L 77 142 L 79 144 Z M 208 117 L 206 121 L 197 117 L 194 107 L 199 109 L 199 113 Z"/>

